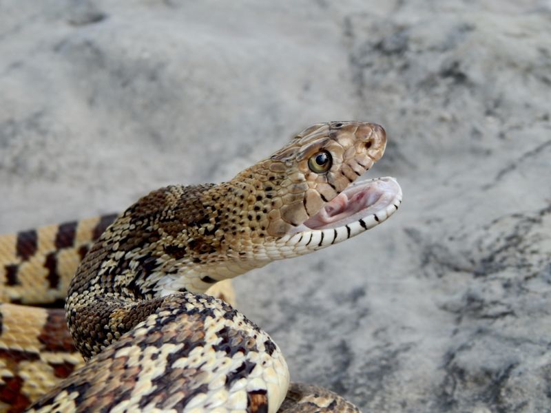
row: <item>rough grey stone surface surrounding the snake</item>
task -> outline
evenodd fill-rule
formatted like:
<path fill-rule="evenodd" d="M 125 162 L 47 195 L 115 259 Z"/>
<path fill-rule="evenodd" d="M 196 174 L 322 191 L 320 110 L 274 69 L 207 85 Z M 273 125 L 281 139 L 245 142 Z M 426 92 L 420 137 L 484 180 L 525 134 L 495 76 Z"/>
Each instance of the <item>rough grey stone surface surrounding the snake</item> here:
<path fill-rule="evenodd" d="M 0 231 L 381 123 L 401 211 L 240 309 L 365 412 L 551 412 L 550 33 L 536 0 L 2 1 Z"/>

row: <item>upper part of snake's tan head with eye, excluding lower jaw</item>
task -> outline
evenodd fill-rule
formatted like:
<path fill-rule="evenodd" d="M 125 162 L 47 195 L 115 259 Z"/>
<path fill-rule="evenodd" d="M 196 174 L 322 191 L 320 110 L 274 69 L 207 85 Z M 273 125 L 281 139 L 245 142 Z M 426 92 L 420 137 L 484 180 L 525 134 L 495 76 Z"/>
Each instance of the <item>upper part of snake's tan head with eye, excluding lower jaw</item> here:
<path fill-rule="evenodd" d="M 304 129 L 231 180 L 254 200 L 242 226 L 249 226 L 253 240 L 286 235 L 370 169 L 385 147 L 384 129 L 373 123 L 318 123 Z"/>

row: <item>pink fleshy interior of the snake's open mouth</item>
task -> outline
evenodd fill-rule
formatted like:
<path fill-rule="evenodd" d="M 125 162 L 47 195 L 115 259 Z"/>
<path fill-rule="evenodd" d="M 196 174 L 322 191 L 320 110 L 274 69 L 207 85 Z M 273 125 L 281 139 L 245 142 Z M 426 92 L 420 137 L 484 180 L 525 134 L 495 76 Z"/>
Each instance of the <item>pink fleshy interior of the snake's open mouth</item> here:
<path fill-rule="evenodd" d="M 402 200 L 402 189 L 394 178 L 375 178 L 351 184 L 327 202 L 313 217 L 304 222 L 298 231 L 306 229 L 333 229 L 375 215 L 385 220 L 389 207 L 397 208 Z M 378 216 L 377 216 L 378 215 Z"/>

